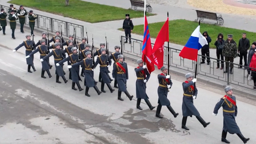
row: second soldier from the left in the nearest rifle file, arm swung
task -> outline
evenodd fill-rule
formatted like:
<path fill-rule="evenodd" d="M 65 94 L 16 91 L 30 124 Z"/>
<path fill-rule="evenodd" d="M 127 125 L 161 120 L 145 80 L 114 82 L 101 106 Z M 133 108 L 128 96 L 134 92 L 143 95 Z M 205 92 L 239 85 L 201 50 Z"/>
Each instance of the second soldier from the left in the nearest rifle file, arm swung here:
<path fill-rule="evenodd" d="M 35 53 L 39 52 L 40 53 L 40 59 L 42 59 L 43 57 L 45 57 L 47 55 L 47 46 L 46 46 L 46 41 L 45 39 L 41 39 L 41 46 L 37 47 L 36 50 L 34 50 L 32 53 L 30 53 L 26 58 L 29 58 L 31 56 L 33 56 Z M 49 59 L 48 59 L 49 60 Z M 50 67 L 48 65 L 47 60 L 42 62 L 42 72 L 41 72 L 41 78 L 46 79 L 46 77 L 44 76 L 44 72 L 46 71 L 49 78 L 52 77 L 52 75 L 50 74 L 49 71 Z"/>

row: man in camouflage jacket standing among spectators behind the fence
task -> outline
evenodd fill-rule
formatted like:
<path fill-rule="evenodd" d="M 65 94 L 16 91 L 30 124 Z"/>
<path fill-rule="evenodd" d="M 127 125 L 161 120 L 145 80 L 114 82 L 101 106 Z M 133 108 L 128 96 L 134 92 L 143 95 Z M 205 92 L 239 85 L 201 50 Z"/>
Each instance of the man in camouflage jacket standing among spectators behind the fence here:
<path fill-rule="evenodd" d="M 225 57 L 226 61 L 226 70 L 224 73 L 228 73 L 228 66 L 230 62 L 230 74 L 233 74 L 234 68 L 234 58 L 237 57 L 237 45 L 236 42 L 233 40 L 233 35 L 228 34 L 228 39 L 224 42 L 224 47 L 222 49 L 223 56 Z"/>

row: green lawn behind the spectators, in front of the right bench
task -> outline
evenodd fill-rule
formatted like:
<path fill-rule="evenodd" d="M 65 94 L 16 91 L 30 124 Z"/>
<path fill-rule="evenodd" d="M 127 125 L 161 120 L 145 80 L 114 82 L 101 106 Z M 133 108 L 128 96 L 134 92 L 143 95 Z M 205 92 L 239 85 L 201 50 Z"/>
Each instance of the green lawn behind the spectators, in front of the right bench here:
<path fill-rule="evenodd" d="M 156 38 L 163 25 L 164 25 L 164 22 L 150 23 L 149 24 L 150 37 Z M 187 20 L 169 21 L 170 42 L 185 45 L 187 43 L 188 38 L 191 36 L 192 32 L 196 29 L 197 26 L 198 26 L 198 22 L 194 22 L 194 21 L 187 21 Z M 122 28 L 119 28 L 118 30 L 122 30 Z M 214 46 L 214 42 L 216 41 L 219 33 L 223 33 L 225 40 L 227 39 L 228 34 L 233 34 L 233 39 L 236 41 L 237 44 L 239 42 L 239 39 L 242 38 L 242 33 L 244 32 L 246 33 L 247 38 L 250 39 L 250 44 L 255 41 L 255 37 L 256 37 L 256 33 L 254 32 L 209 25 L 201 22 L 200 32 L 203 33 L 204 31 L 207 31 L 209 36 L 212 38 L 212 42 L 210 43 L 210 48 L 216 48 Z M 143 35 L 144 25 L 134 26 L 132 33 Z"/>

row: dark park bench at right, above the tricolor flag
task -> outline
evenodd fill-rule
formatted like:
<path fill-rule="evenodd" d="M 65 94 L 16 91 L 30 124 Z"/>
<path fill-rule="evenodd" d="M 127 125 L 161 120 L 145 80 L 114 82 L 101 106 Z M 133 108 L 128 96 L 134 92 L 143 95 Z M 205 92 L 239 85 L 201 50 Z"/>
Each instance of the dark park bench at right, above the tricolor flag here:
<path fill-rule="evenodd" d="M 209 19 L 209 20 L 217 21 L 217 23 L 215 23 L 214 25 L 218 25 L 218 23 L 219 23 L 219 25 L 223 25 L 223 23 L 224 23 L 222 15 L 217 16 L 216 13 L 207 12 L 207 11 L 199 11 L 199 10 L 196 10 L 196 12 L 197 12 L 197 19 L 195 21 L 198 21 L 198 19 L 200 21 L 203 21 L 204 18 L 206 18 L 206 19 Z"/>

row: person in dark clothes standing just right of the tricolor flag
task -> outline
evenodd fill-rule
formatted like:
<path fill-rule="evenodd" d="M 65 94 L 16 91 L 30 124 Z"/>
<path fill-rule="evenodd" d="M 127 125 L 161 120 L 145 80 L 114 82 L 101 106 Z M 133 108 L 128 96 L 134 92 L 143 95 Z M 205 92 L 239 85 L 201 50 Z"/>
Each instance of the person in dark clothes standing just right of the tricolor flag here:
<path fill-rule="evenodd" d="M 209 45 L 210 45 L 210 42 L 212 42 L 212 39 L 209 37 L 207 31 L 203 32 L 203 36 L 206 38 L 208 44 L 202 47 L 201 52 L 202 52 L 202 55 L 206 55 L 207 57 L 210 57 Z M 202 62 L 200 64 L 204 64 L 205 59 L 206 57 L 202 56 Z M 209 64 L 210 64 L 210 58 L 207 58 L 207 65 Z"/>

